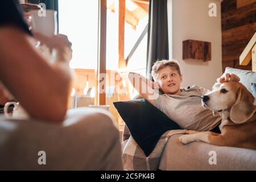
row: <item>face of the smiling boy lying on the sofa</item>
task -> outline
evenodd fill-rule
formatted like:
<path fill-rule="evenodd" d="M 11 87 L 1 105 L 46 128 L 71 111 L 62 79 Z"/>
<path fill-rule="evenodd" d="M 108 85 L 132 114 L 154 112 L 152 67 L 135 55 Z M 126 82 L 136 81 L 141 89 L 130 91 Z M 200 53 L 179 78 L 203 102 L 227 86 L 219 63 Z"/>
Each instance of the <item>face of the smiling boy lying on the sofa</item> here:
<path fill-rule="evenodd" d="M 180 84 L 182 76 L 179 75 L 174 67 L 167 66 L 158 72 L 158 82 L 166 94 L 180 94 Z"/>

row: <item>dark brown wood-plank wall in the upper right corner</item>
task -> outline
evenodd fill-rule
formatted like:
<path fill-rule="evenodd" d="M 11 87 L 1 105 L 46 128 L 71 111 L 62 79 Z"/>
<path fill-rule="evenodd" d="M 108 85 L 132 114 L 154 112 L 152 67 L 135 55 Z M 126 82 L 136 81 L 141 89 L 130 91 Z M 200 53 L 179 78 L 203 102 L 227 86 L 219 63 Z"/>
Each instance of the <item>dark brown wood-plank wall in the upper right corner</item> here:
<path fill-rule="evenodd" d="M 237 1 L 221 3 L 223 72 L 226 67 L 251 70 L 251 63 L 247 66 L 239 64 L 239 56 L 256 32 L 256 2 L 240 2 L 243 6 L 237 8 Z"/>

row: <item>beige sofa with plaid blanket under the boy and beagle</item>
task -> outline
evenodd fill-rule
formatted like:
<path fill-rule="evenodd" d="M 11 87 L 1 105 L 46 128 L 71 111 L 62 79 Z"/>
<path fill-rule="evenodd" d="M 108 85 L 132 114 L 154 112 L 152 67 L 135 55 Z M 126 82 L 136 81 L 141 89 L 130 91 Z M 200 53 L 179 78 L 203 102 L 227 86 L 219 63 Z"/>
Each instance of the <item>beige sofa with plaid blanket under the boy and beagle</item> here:
<path fill-rule="evenodd" d="M 250 85 L 256 82 L 255 72 L 226 68 L 225 73 L 235 73 L 240 77 L 240 82 L 250 92 L 253 92 Z M 154 154 L 156 153 L 156 149 L 154 149 L 150 156 L 143 156 L 143 151 L 137 146 L 133 137 L 127 134 L 129 133 L 127 126 L 125 126 L 125 131 L 122 150 L 123 163 L 127 170 L 256 170 L 256 150 L 220 147 L 204 142 L 192 142 L 184 145 L 178 139 L 183 131 L 177 133 L 167 131 L 156 145 L 156 148 L 162 148 L 160 154 Z M 131 150 L 127 149 L 129 147 Z M 131 151 L 137 151 L 137 154 L 135 152 L 131 154 Z M 159 151 L 157 152 L 159 153 Z M 144 160 L 142 160 L 143 158 Z"/>

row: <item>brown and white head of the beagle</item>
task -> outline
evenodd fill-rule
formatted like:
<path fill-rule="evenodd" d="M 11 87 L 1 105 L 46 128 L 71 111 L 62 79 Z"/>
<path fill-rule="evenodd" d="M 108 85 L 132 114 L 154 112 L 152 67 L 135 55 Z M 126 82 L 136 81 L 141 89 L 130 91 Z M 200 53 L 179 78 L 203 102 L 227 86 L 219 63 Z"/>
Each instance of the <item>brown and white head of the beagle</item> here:
<path fill-rule="evenodd" d="M 202 105 L 213 111 L 229 111 L 234 123 L 243 123 L 256 111 L 255 98 L 239 82 L 216 83 L 213 90 L 202 96 Z"/>

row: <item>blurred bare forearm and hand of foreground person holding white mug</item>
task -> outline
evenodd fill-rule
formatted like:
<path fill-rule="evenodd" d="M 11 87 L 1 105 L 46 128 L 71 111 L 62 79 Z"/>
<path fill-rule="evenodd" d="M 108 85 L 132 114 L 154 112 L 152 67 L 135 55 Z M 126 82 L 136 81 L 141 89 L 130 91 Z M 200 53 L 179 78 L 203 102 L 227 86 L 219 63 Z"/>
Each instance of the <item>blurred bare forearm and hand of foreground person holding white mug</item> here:
<path fill-rule="evenodd" d="M 63 45 L 57 40 L 62 40 Z M 35 45 L 31 44 L 30 36 L 20 28 L 12 25 L 1 27 L 0 77 L 32 118 L 60 123 L 67 113 L 72 88 L 71 74 L 66 71 L 71 57 L 65 56 L 65 49 L 71 51 L 71 43 L 65 36 L 57 36 L 49 41 L 52 41 L 52 48 L 56 49 L 58 54 L 61 55 L 59 50 L 63 49 L 64 56 L 60 61 L 64 63 L 59 63 L 61 67 L 48 64 L 46 58 L 36 51 Z M 46 45 L 51 46 L 50 43 Z M 15 50 L 15 53 L 10 50 Z"/>

